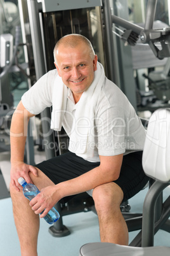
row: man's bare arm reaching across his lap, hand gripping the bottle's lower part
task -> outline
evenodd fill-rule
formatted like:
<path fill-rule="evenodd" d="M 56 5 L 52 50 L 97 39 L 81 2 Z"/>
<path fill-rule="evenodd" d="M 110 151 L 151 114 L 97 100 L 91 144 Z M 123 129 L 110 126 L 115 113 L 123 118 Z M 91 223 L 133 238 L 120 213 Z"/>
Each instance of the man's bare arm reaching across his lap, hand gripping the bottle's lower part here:
<path fill-rule="evenodd" d="M 110 157 L 100 156 L 100 166 L 88 173 L 57 185 L 42 188 L 41 193 L 30 201 L 32 210 L 39 214 L 45 209 L 41 215 L 42 218 L 63 197 L 79 194 L 101 184 L 117 180 L 121 171 L 122 157 L 123 154 Z"/>

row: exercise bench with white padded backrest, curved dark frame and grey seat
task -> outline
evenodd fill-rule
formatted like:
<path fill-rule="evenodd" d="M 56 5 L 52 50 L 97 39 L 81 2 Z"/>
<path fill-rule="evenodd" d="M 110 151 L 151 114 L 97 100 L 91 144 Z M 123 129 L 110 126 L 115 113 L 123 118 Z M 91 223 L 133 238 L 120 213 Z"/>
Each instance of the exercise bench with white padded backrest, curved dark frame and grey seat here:
<path fill-rule="evenodd" d="M 133 241 L 133 246 L 120 246 L 111 243 L 89 243 L 82 246 L 80 256 L 103 255 L 169 255 L 170 247 L 154 246 L 154 234 L 159 229 L 170 232 L 170 196 L 161 208 L 160 194 L 170 184 L 170 109 L 156 110 L 148 122 L 147 137 L 143 150 L 143 169 L 154 179 L 153 185 L 147 192 L 143 204 L 143 220 L 141 232 Z M 134 220 L 135 222 L 135 220 Z M 134 242 L 136 245 L 134 245 Z"/>

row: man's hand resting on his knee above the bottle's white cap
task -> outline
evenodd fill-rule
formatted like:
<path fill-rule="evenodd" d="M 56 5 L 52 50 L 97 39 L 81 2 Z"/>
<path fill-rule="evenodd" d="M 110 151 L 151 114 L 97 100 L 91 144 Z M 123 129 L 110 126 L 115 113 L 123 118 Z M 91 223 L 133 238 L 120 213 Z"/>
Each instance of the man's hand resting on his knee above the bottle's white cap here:
<path fill-rule="evenodd" d="M 22 186 L 18 183 L 18 178 L 22 177 L 27 183 L 32 183 L 29 173 L 37 177 L 37 169 L 24 162 L 11 163 L 11 185 L 19 192 Z"/>

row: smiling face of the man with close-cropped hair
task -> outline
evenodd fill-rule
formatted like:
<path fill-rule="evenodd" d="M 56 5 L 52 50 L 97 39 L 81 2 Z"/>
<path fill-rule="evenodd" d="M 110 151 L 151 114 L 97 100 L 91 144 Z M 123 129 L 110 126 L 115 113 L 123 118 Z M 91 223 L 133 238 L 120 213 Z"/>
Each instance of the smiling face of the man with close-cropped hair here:
<path fill-rule="evenodd" d="M 97 56 L 94 59 L 89 54 L 89 48 L 84 42 L 74 48 L 58 46 L 55 63 L 58 75 L 63 83 L 72 90 L 75 103 L 79 101 L 84 90 L 88 89 L 94 79 Z"/>

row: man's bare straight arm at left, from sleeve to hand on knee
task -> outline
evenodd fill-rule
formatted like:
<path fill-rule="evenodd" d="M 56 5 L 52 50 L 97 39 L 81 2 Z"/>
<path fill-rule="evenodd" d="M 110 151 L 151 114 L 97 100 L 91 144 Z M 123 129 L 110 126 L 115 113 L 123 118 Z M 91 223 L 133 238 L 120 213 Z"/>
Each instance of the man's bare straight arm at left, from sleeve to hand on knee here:
<path fill-rule="evenodd" d="M 36 168 L 24 164 L 25 141 L 30 117 L 34 115 L 27 111 L 22 101 L 18 104 L 11 120 L 10 143 L 11 143 L 11 184 L 19 191 L 18 178 L 22 176 L 30 183 L 29 171 L 37 175 Z"/>

